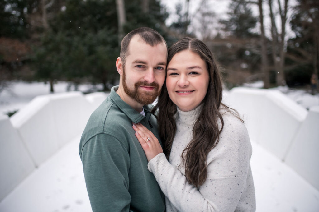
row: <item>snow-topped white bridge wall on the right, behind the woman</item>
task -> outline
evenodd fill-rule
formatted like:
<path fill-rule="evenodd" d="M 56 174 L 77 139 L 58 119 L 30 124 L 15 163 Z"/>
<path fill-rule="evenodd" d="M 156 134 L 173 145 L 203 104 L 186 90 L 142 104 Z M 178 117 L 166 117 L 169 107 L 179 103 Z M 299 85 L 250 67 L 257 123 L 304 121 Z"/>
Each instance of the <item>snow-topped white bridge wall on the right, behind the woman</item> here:
<path fill-rule="evenodd" d="M 278 90 L 233 88 L 225 102 L 245 120 L 250 139 L 319 190 L 319 106 L 307 111 Z"/>

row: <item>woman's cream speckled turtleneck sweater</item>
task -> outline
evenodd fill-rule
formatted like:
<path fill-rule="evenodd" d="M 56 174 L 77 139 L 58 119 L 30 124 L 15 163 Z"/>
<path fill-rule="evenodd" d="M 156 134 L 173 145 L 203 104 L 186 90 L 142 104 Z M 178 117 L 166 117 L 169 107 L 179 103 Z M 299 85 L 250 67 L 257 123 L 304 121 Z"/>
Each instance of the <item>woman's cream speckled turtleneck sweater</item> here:
<path fill-rule="evenodd" d="M 176 134 L 169 161 L 164 153 L 148 163 L 166 196 L 166 211 L 255 211 L 255 188 L 250 169 L 252 148 L 244 124 L 230 112 L 218 145 L 207 156 L 207 179 L 199 188 L 188 183 L 181 154 L 193 138 L 199 107 L 175 114 Z M 220 125 L 220 123 L 219 123 Z"/>

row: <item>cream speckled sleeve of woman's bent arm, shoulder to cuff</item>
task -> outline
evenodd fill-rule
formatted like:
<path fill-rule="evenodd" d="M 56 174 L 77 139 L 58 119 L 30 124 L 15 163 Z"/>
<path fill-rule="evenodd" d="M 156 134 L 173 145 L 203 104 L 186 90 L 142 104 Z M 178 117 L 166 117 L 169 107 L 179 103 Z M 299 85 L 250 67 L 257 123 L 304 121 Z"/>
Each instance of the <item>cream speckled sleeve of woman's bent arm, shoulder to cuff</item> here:
<path fill-rule="evenodd" d="M 235 211 L 246 186 L 251 145 L 241 123 L 225 126 L 207 157 L 207 178 L 195 187 L 160 153 L 148 163 L 163 193 L 178 211 Z"/>

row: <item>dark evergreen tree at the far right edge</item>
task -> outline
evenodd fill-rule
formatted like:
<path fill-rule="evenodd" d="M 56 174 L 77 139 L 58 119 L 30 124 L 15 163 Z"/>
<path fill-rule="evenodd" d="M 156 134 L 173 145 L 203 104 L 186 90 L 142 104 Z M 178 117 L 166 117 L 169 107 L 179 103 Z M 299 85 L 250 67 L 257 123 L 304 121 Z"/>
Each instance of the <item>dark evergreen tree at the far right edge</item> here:
<path fill-rule="evenodd" d="M 309 84 L 315 74 L 318 79 L 319 64 L 319 2 L 298 0 L 290 21 L 295 38 L 288 40 L 286 53 L 287 85 Z"/>

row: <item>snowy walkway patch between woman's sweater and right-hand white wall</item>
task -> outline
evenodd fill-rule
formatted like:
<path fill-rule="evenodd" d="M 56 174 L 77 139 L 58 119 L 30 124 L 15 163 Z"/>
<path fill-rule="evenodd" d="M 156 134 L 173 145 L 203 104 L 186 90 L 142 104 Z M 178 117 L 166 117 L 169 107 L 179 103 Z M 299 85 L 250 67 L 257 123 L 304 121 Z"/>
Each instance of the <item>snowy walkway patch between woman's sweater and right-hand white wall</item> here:
<path fill-rule="evenodd" d="M 318 212 L 319 191 L 262 146 L 251 144 L 256 212 Z"/>

